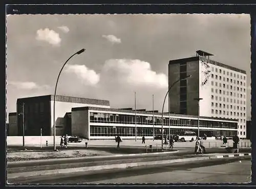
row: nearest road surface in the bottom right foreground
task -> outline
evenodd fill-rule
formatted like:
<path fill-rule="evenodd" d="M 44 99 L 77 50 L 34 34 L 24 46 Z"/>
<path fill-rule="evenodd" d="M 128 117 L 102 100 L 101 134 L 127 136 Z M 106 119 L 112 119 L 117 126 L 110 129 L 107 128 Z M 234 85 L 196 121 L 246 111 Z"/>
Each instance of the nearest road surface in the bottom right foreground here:
<path fill-rule="evenodd" d="M 241 161 L 241 162 L 240 162 Z M 49 178 L 26 183 L 41 184 L 121 184 L 121 183 L 245 183 L 251 181 L 251 158 L 221 158 L 125 170 L 71 174 L 69 178 Z M 25 183 L 25 182 L 24 182 Z"/>

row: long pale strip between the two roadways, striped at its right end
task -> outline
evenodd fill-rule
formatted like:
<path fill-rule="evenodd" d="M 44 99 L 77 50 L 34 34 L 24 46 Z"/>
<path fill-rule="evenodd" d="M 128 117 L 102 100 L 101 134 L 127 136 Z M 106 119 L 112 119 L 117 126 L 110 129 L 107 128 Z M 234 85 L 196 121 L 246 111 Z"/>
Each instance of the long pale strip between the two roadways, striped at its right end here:
<path fill-rule="evenodd" d="M 33 171 L 33 172 L 23 172 L 23 173 L 10 173 L 7 175 L 8 179 L 28 179 L 35 178 L 37 176 L 49 176 L 56 174 L 68 174 L 68 173 L 84 173 L 88 171 L 99 171 L 99 170 L 110 170 L 110 169 L 125 169 L 133 168 L 139 166 L 152 166 L 155 164 L 167 164 L 167 163 L 177 163 L 177 162 L 187 162 L 187 161 L 197 161 L 197 160 L 207 160 L 225 157 L 239 157 L 239 156 L 250 156 L 251 153 L 245 154 L 232 154 L 232 155 L 220 155 L 220 156 L 206 156 L 206 157 L 191 157 L 184 159 L 172 159 L 172 160 L 160 160 L 160 161 L 144 161 L 144 162 L 133 162 L 133 163 L 120 163 L 120 164 L 108 164 L 103 166 L 91 166 L 91 167 L 81 167 L 81 168 L 69 168 L 69 169 L 58 169 L 58 170 L 46 170 L 46 171 Z"/>

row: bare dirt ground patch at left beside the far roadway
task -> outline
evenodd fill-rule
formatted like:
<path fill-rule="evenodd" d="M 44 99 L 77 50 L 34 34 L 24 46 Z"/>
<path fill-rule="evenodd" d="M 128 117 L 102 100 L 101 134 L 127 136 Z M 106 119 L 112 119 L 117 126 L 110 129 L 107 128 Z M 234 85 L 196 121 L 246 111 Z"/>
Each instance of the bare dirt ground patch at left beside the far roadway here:
<path fill-rule="evenodd" d="M 54 159 L 103 155 L 113 155 L 113 153 L 91 149 L 63 150 L 58 152 L 46 152 L 36 150 L 12 150 L 7 152 L 6 157 L 7 161 L 22 161 L 32 159 Z"/>

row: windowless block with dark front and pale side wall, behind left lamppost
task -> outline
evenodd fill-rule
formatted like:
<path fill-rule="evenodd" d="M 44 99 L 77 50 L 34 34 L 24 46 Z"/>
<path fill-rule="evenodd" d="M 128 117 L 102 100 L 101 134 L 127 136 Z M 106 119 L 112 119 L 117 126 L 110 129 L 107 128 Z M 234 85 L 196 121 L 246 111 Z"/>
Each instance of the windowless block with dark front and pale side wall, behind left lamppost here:
<path fill-rule="evenodd" d="M 40 135 L 41 129 L 42 135 L 53 135 L 54 121 L 56 135 L 68 134 L 71 126 L 67 124 L 71 123 L 68 119 L 71 115 L 67 112 L 71 112 L 71 108 L 81 106 L 110 108 L 110 102 L 106 100 L 56 96 L 55 120 L 53 120 L 53 102 L 53 95 L 17 99 L 17 135 L 23 135 L 23 120 L 25 135 Z"/>

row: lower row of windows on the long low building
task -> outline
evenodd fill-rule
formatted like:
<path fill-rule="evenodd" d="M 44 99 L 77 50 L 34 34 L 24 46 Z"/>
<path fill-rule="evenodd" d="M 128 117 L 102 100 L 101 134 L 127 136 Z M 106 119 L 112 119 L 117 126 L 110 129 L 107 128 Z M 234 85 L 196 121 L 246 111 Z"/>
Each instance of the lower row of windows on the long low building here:
<path fill-rule="evenodd" d="M 188 129 L 170 129 L 170 135 L 179 134 L 181 131 L 188 131 Z M 189 131 L 191 131 L 189 129 Z M 193 130 L 197 131 L 197 130 Z M 227 130 L 200 130 L 200 136 L 206 134 L 206 136 L 234 136 L 237 131 L 227 131 Z M 160 128 L 154 128 L 154 136 L 161 135 Z M 169 129 L 164 129 L 164 135 L 169 134 Z M 135 133 L 135 127 L 115 127 L 115 126 L 90 126 L 90 135 L 91 136 L 152 136 L 153 137 L 153 128 L 144 128 L 137 127 L 137 132 Z"/>

